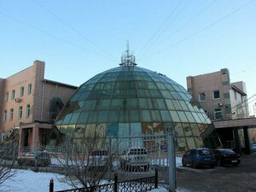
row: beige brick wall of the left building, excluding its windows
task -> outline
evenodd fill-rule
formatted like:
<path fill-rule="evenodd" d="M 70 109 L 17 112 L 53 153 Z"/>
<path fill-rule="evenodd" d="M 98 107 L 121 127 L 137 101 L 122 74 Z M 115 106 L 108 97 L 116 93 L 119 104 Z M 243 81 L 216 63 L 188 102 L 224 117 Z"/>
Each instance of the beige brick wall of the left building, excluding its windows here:
<path fill-rule="evenodd" d="M 48 83 L 44 81 L 44 61 L 34 61 L 19 73 L 15 73 L 7 79 L 0 79 L 0 134 L 2 131 L 8 133 L 14 126 L 20 123 L 30 123 L 34 120 L 49 121 L 49 103 L 54 96 L 61 98 L 62 102 L 67 102 L 68 98 L 76 90 L 75 87 L 63 85 L 61 83 Z M 28 84 L 32 84 L 32 93 L 27 94 Z M 20 96 L 20 87 L 24 87 L 24 96 Z M 11 99 L 12 90 L 15 90 L 15 98 L 19 102 Z M 5 93 L 9 93 L 8 102 L 4 102 Z M 26 106 L 31 106 L 31 115 L 26 117 Z M 22 107 L 22 118 L 18 118 L 19 107 Z M 9 119 L 10 109 L 14 109 L 13 119 Z M 3 111 L 7 110 L 7 120 L 3 122 Z"/>

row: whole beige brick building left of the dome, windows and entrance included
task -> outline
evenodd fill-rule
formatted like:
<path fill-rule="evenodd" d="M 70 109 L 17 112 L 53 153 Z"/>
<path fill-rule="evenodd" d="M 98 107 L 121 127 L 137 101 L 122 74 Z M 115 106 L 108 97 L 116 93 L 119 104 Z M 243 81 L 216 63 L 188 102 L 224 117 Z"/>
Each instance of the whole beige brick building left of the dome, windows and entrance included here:
<path fill-rule="evenodd" d="M 20 148 L 45 144 L 47 133 L 76 86 L 44 79 L 44 61 L 0 79 L 0 142 L 19 129 Z"/>

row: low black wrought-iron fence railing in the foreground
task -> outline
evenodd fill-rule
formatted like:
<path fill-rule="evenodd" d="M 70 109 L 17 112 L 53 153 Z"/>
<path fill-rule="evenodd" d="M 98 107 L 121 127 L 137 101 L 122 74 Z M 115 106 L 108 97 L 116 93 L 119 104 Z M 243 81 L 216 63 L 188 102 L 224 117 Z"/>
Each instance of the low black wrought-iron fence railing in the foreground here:
<path fill-rule="evenodd" d="M 65 189 L 65 190 L 54 190 L 54 180 L 50 179 L 49 192 L 84 192 L 84 191 L 104 191 L 104 192 L 118 192 L 118 191 L 148 191 L 151 189 L 158 188 L 158 170 L 155 169 L 154 176 L 143 177 L 137 179 L 131 179 L 128 181 L 119 182 L 118 174 L 114 174 L 113 183 L 101 184 L 97 186 L 90 186 L 87 188 L 78 189 Z"/>

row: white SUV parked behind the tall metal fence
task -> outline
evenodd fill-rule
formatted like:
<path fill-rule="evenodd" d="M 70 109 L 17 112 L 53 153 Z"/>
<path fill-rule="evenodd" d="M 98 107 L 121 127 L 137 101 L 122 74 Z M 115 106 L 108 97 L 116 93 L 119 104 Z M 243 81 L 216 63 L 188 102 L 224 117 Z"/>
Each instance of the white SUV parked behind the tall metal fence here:
<path fill-rule="evenodd" d="M 120 156 L 120 165 L 125 171 L 148 172 L 149 157 L 147 149 L 143 147 L 125 149 Z"/>

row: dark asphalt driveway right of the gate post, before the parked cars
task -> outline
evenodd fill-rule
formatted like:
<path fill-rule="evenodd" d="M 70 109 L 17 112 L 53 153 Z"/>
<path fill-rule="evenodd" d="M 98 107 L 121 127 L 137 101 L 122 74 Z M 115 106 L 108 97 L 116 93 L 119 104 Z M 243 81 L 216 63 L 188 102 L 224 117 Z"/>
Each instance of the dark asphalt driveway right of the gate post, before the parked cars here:
<path fill-rule="evenodd" d="M 177 168 L 177 189 L 195 192 L 255 192 L 256 153 L 241 156 L 239 166 Z"/>

